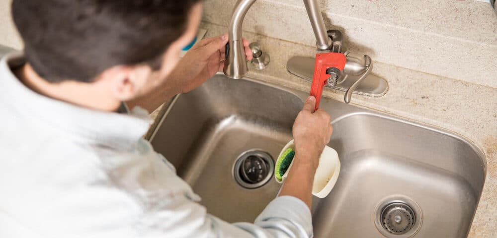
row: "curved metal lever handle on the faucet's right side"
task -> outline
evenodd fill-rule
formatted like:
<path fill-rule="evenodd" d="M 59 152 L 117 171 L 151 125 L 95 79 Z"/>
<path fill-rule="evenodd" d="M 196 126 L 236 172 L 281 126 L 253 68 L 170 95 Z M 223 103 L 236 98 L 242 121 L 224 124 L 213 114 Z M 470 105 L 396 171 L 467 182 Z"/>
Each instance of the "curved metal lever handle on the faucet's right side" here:
<path fill-rule="evenodd" d="M 349 57 L 350 55 L 350 57 Z M 343 97 L 343 100 L 345 103 L 350 103 L 350 99 L 352 98 L 352 93 L 354 92 L 355 88 L 364 80 L 370 73 L 371 70 L 373 69 L 373 60 L 367 55 L 364 55 L 364 63 L 362 64 L 362 60 L 356 57 L 355 54 L 347 54 L 345 55 L 347 58 L 347 62 L 345 63 L 345 67 L 343 68 L 343 72 L 347 74 L 352 74 L 352 75 L 358 75 L 356 73 L 363 71 L 362 75 L 355 81 L 348 89 L 347 92 L 345 92 L 345 96 Z M 348 64 L 348 65 L 347 65 Z"/>

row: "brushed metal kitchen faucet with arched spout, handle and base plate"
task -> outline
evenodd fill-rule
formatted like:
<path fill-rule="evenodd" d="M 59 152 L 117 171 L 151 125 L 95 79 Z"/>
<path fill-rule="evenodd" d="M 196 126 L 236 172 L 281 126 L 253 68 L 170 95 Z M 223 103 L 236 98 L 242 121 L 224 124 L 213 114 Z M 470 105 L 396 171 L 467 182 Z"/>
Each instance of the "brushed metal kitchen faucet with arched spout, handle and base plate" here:
<path fill-rule="evenodd" d="M 242 24 L 248 9 L 254 2 L 255 0 L 237 0 L 233 9 L 228 32 L 229 41 L 228 44 L 226 44 L 226 60 L 223 69 L 224 74 L 230 78 L 243 78 L 248 73 L 247 59 L 242 42 Z M 328 86 L 342 90 L 341 88 L 347 85 L 347 88 L 343 90 L 346 92 L 344 96 L 345 103 L 349 103 L 352 93 L 357 91 L 359 94 L 366 95 L 385 94 L 388 90 L 388 84 L 383 79 L 368 77 L 373 66 L 371 58 L 366 55 L 361 56 L 349 52 L 342 52 L 342 33 L 337 30 L 326 30 L 325 22 L 323 21 L 323 16 L 321 15 L 317 0 L 304 0 L 304 5 L 309 20 L 311 21 L 314 35 L 316 36 L 317 53 L 341 53 L 346 57 L 343 73 L 336 72 L 334 74 L 334 80 L 332 80 L 332 82 L 329 81 Z M 312 80 L 314 64 L 307 65 L 304 63 L 305 65 L 303 65 L 304 61 L 305 60 L 301 60 L 301 58 L 294 57 L 289 60 L 287 69 L 291 73 L 306 79 L 309 79 L 309 77 L 306 77 L 305 75 L 310 71 Z M 340 76 L 337 76 L 338 74 Z M 346 80 L 347 78 L 349 80 Z M 346 82 L 343 83 L 344 81 Z M 365 90 L 358 88 L 362 81 L 365 81 L 364 84 L 367 85 L 367 87 L 364 87 Z M 356 90 L 356 88 L 360 90 Z"/>

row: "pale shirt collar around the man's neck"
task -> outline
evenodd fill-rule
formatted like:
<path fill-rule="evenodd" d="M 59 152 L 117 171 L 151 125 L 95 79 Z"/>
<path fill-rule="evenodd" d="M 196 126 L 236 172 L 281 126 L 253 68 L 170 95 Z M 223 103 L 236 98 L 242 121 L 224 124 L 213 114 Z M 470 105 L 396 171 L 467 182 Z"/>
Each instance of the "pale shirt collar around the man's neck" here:
<path fill-rule="evenodd" d="M 133 150 L 147 132 L 152 119 L 148 112 L 135 108 L 130 114 L 103 112 L 79 107 L 40 95 L 22 84 L 11 68 L 25 63 L 14 53 L 0 60 L 0 98 L 22 117 L 37 120 L 59 132 L 89 143 L 120 150 Z"/>

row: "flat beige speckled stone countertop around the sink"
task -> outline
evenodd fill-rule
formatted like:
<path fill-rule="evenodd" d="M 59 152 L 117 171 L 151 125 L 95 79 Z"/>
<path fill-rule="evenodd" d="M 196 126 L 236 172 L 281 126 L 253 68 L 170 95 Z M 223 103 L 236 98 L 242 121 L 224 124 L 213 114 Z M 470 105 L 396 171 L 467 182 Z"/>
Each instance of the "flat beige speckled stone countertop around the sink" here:
<path fill-rule="evenodd" d="M 206 22 L 201 27 L 208 29 L 206 37 L 227 31 Z M 260 43 L 271 57 L 264 70 L 250 70 L 250 78 L 310 90 L 308 81 L 286 70 L 286 62 L 292 56 L 313 56 L 313 47 L 248 32 L 244 37 Z M 487 177 L 469 238 L 497 238 L 497 89 L 376 61 L 373 72 L 388 81 L 387 94 L 379 98 L 354 94 L 351 104 L 442 127 L 466 137 L 484 152 Z M 343 101 L 343 92 L 333 89 L 326 88 L 323 96 Z"/>

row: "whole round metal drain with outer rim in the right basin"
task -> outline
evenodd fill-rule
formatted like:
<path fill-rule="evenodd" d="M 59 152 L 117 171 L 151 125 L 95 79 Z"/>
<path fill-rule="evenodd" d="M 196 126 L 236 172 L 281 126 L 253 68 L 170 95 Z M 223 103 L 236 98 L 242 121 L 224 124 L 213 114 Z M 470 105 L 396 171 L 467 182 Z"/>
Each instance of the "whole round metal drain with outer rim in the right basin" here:
<path fill-rule="evenodd" d="M 375 225 L 386 238 L 411 238 L 421 228 L 421 208 L 409 197 L 386 197 L 376 207 Z"/>

